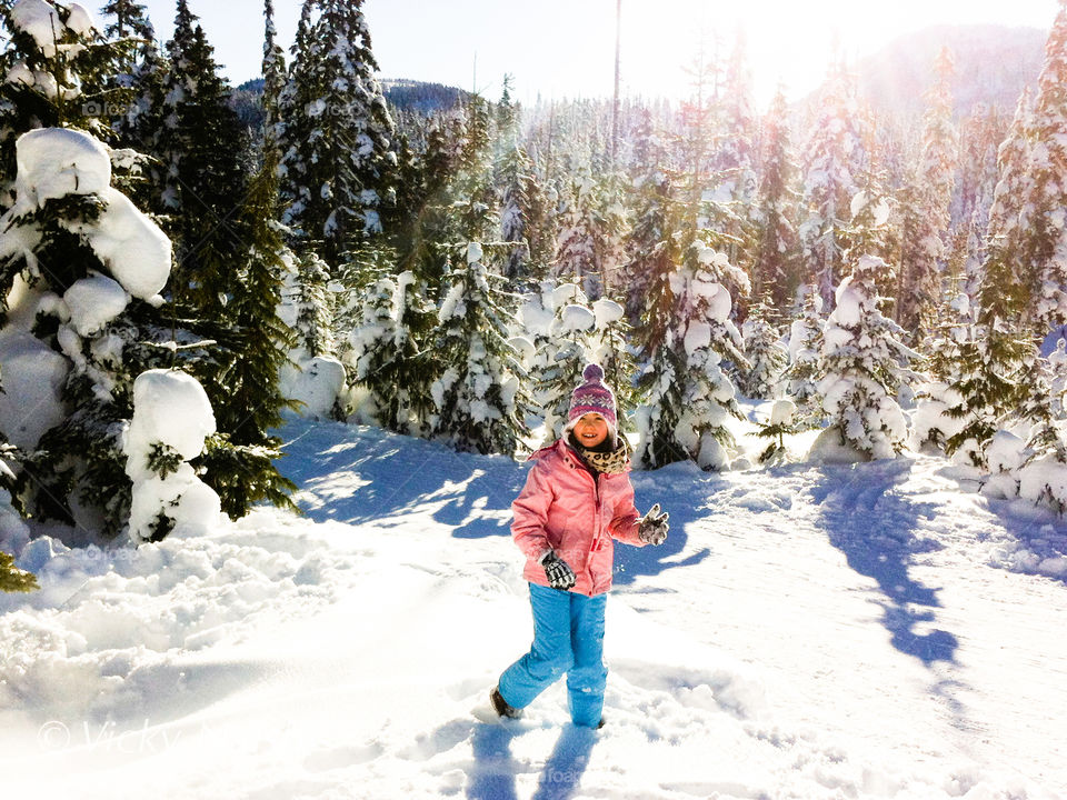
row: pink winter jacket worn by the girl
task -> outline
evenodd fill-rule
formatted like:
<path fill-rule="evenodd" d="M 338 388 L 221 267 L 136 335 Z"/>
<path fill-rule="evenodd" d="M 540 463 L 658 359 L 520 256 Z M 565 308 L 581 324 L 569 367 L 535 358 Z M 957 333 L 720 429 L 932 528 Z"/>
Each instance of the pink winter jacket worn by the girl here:
<path fill-rule="evenodd" d="M 541 556 L 549 549 L 575 570 L 570 591 L 600 594 L 611 588 L 612 539 L 642 547 L 637 534 L 630 477 L 592 474 L 562 439 L 530 456 L 526 486 L 511 503 L 511 536 L 526 554 L 522 577 L 548 586 Z"/>

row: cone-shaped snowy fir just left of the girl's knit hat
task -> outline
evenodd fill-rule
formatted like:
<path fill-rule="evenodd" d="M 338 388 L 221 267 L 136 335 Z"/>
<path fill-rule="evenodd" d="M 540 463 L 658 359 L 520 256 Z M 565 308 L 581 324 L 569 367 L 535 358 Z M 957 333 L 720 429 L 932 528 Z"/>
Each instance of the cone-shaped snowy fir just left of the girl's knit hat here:
<path fill-rule="evenodd" d="M 457 264 L 438 313 L 433 350 L 442 371 L 433 382 L 430 434 L 462 452 L 511 456 L 527 433 L 522 369 L 508 343 L 500 281 L 471 242 Z"/>

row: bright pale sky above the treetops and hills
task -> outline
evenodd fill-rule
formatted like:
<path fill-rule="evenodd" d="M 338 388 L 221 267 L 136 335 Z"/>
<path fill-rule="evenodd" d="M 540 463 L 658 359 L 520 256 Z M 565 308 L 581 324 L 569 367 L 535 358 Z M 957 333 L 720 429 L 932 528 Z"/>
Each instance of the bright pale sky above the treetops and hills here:
<path fill-rule="evenodd" d="M 142 0 L 144 1 L 144 0 Z M 98 0 L 100 2 L 100 0 Z M 363 13 L 382 78 L 477 89 L 497 98 L 505 73 L 526 103 L 610 97 L 615 79 L 617 0 L 365 0 Z M 300 0 L 275 0 L 279 39 L 288 47 Z M 147 0 L 161 39 L 173 0 Z M 189 0 L 217 60 L 235 84 L 259 74 L 262 0 Z M 728 53 L 740 30 L 757 103 L 779 82 L 800 97 L 822 79 L 835 47 L 861 58 L 897 37 L 934 24 L 996 23 L 1047 29 L 1057 0 L 621 0 L 620 88 L 629 96 L 689 94 L 700 42 Z M 235 31 L 240 31 L 235 36 Z"/>

